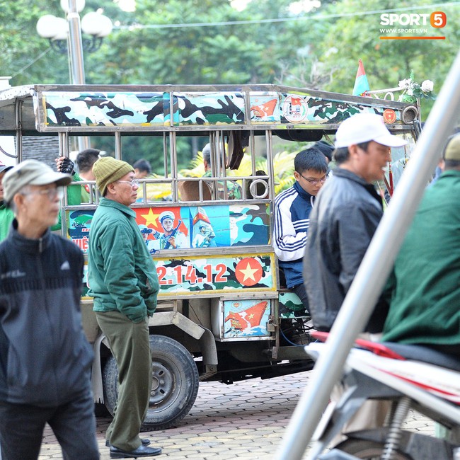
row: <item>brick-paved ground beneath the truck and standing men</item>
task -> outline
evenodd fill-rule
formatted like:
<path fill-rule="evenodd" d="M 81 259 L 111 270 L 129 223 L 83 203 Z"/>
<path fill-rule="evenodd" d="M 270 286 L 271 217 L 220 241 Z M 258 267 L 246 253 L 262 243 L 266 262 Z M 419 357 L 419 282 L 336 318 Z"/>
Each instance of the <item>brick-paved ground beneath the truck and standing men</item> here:
<path fill-rule="evenodd" d="M 275 460 L 275 451 L 308 377 L 309 372 L 303 372 L 229 386 L 202 382 L 195 406 L 178 427 L 143 434 L 163 448 L 161 456 L 151 458 Z M 97 419 L 101 460 L 110 458 L 104 437 L 109 421 L 106 417 Z M 434 431 L 432 422 L 416 413 L 410 413 L 406 427 L 429 435 Z M 50 429 L 45 432 L 39 459 L 62 459 Z"/>

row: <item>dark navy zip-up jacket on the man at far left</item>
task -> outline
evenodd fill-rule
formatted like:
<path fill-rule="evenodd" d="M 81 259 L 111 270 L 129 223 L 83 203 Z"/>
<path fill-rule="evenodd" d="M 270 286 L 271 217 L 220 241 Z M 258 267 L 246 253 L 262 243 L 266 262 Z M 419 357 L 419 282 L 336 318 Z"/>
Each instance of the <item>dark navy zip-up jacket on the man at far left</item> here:
<path fill-rule="evenodd" d="M 84 259 L 47 231 L 0 244 L 0 401 L 59 406 L 90 391 L 93 352 L 81 326 Z"/>

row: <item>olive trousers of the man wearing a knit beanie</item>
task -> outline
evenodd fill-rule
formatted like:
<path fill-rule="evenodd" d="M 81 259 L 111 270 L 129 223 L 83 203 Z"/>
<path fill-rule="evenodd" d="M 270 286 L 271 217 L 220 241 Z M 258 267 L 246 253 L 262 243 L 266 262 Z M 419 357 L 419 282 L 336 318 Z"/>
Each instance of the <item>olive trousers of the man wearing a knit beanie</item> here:
<path fill-rule="evenodd" d="M 139 430 L 149 408 L 152 379 L 149 319 L 133 323 L 119 311 L 96 311 L 96 318 L 118 368 L 117 404 L 105 439 L 130 452 L 142 444 Z"/>

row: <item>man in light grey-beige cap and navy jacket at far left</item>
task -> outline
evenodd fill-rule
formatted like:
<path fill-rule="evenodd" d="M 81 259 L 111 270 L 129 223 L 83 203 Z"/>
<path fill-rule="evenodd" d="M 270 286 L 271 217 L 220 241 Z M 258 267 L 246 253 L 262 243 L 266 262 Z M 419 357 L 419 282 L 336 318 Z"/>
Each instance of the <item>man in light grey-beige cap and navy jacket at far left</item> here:
<path fill-rule="evenodd" d="M 3 179 L 13 209 L 0 243 L 0 444 L 3 460 L 37 459 L 48 423 L 64 459 L 99 459 L 93 352 L 81 326 L 84 258 L 52 234 L 71 176 L 27 160 Z"/>

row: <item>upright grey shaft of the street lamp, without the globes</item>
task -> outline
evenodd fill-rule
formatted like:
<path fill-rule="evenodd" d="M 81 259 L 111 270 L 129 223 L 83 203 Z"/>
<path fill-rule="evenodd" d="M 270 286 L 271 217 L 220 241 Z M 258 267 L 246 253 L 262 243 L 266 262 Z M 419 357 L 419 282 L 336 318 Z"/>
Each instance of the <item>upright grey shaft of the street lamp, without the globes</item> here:
<path fill-rule="evenodd" d="M 69 0 L 69 12 L 67 13 L 69 23 L 69 58 L 71 66 L 72 84 L 84 85 L 85 67 L 83 60 L 83 42 L 81 40 L 80 15 L 76 11 L 76 0 Z M 89 149 L 88 137 L 79 137 L 79 151 Z"/>

